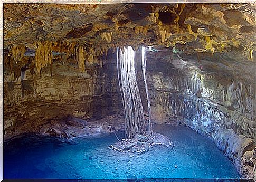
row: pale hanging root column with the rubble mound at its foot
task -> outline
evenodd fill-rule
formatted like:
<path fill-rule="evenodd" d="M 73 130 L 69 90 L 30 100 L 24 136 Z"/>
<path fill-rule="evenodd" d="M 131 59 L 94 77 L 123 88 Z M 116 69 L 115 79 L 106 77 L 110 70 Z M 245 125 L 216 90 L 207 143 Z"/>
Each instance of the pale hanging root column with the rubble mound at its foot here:
<path fill-rule="evenodd" d="M 137 154 L 143 154 L 144 152 L 149 151 L 149 148 L 154 145 L 163 145 L 167 148 L 173 147 L 173 143 L 168 137 L 159 133 L 154 133 L 151 128 L 151 107 L 146 82 L 146 47 L 141 47 L 141 66 L 147 94 L 149 131 L 146 131 L 143 104 L 141 102 L 139 87 L 136 80 L 135 51 L 131 46 L 128 46 L 127 48 L 124 47 L 124 52 L 120 49 L 119 58 L 118 49 L 117 71 L 125 112 L 126 138 L 120 141 L 116 136 L 116 133 L 114 133 L 119 142 L 115 143 L 115 145 L 109 146 L 108 149 L 119 152 L 136 152 Z M 133 154 L 131 156 L 133 156 Z"/>

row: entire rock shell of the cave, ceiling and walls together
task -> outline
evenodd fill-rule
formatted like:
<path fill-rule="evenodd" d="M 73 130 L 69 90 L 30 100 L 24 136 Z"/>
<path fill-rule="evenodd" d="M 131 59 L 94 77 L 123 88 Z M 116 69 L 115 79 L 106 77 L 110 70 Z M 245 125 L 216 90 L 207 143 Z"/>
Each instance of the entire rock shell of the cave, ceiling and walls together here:
<path fill-rule="evenodd" d="M 159 51 L 146 53 L 152 120 L 211 138 L 255 179 L 252 4 L 4 4 L 4 140 L 122 128 L 104 118 L 122 114 L 116 47 L 128 45 L 136 62 L 140 46 Z"/>

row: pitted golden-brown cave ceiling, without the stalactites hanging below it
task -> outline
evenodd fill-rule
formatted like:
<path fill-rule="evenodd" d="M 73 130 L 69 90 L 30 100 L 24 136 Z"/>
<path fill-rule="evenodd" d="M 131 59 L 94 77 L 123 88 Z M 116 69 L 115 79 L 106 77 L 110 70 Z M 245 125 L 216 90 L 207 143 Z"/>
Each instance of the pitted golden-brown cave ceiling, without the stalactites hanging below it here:
<path fill-rule="evenodd" d="M 252 4 L 4 4 L 4 47 L 37 41 L 255 50 Z"/>

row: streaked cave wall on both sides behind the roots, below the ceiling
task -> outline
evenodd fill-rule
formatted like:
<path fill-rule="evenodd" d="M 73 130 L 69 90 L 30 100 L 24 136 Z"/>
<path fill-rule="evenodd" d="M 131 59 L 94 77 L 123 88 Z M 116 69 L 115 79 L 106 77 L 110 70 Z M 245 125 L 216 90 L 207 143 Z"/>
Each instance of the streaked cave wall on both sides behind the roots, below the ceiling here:
<path fill-rule="evenodd" d="M 250 70 L 251 63 L 244 62 L 247 73 L 234 72 L 234 66 L 240 63 L 225 64 L 218 54 L 204 54 L 198 61 L 193 54 L 165 51 L 147 51 L 146 76 L 153 121 L 184 124 L 212 139 L 240 174 L 252 177 L 256 139 L 254 65 Z M 13 61 L 11 57 L 7 59 Z M 138 50 L 137 80 L 147 115 L 140 61 Z M 29 132 L 48 132 L 42 130 L 54 129 L 60 120 L 70 116 L 96 120 L 122 113 L 116 52 L 109 50 L 96 63 L 85 63 L 85 71 L 81 72 L 78 64 L 57 56 L 40 73 L 21 69 L 18 78 L 6 64 L 5 140 Z"/>

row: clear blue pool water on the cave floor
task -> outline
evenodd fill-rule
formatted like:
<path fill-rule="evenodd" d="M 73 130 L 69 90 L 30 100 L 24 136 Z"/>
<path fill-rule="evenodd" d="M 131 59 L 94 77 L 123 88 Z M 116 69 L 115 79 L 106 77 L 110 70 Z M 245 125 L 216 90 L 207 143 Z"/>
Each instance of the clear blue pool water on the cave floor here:
<path fill-rule="evenodd" d="M 4 178 L 240 177 L 211 140 L 186 127 L 164 125 L 154 129 L 172 139 L 172 150 L 155 146 L 146 154 L 129 157 L 107 149 L 117 141 L 113 134 L 79 138 L 72 143 L 36 136 L 16 139 L 4 146 Z"/>

